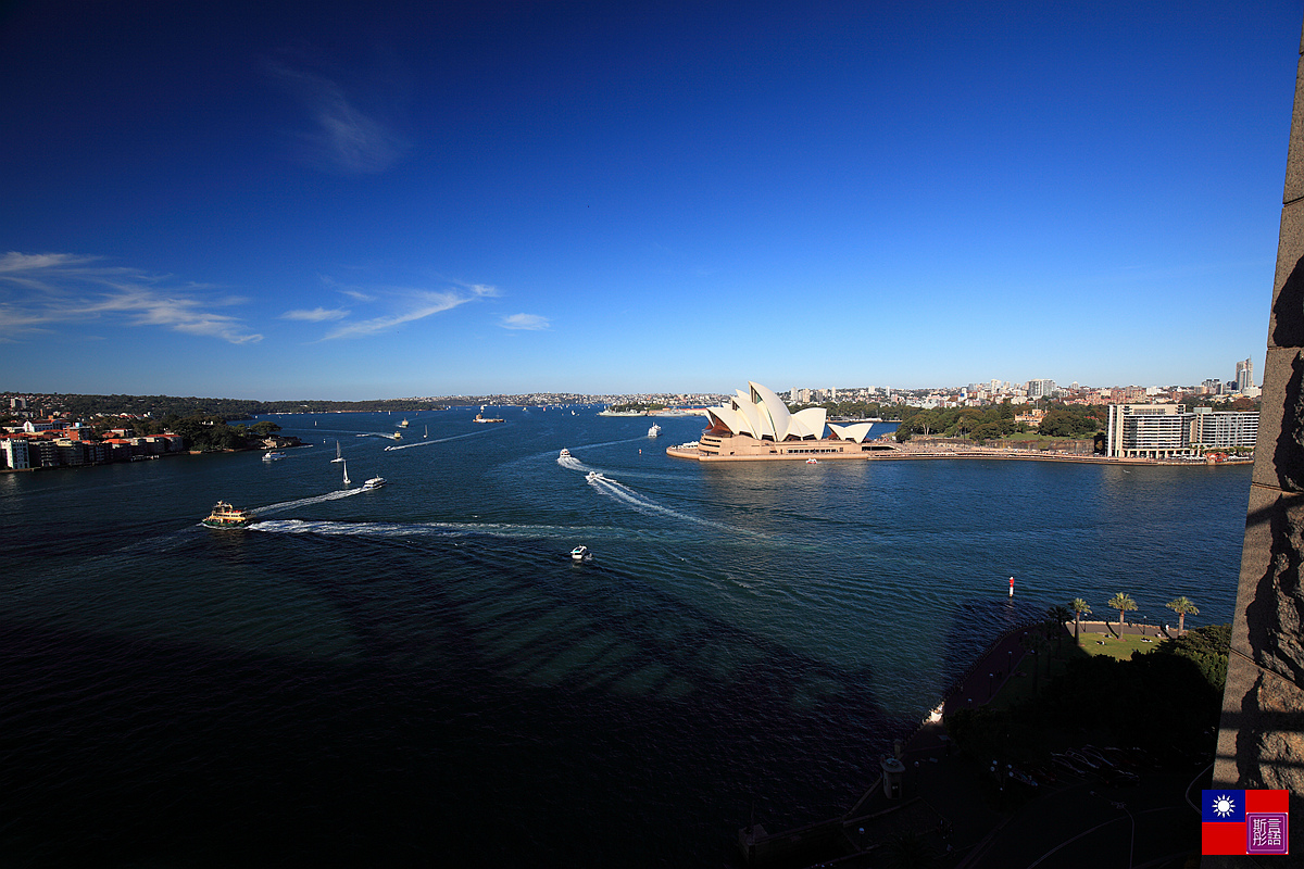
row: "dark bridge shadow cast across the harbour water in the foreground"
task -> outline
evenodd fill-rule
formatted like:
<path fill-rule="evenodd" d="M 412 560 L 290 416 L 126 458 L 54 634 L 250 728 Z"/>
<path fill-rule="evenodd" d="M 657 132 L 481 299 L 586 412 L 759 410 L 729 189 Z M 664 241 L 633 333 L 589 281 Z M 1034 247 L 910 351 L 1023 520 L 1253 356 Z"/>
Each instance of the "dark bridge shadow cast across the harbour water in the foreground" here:
<path fill-rule="evenodd" d="M 188 546 L 310 590 L 353 651 L 0 621 L 0 861 L 719 864 L 751 819 L 844 812 L 914 723 L 868 668 L 548 543 Z"/>

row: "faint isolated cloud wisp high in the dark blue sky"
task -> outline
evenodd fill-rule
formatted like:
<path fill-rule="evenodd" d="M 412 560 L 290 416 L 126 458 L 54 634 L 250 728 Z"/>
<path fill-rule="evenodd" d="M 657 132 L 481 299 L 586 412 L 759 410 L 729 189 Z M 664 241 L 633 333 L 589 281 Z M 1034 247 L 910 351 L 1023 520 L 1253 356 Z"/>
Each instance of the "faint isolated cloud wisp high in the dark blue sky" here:
<path fill-rule="evenodd" d="M 300 135 L 313 162 L 348 175 L 374 175 L 389 169 L 407 151 L 407 139 L 376 113 L 360 108 L 339 83 L 283 64 L 269 63 L 266 68 L 312 121 Z"/>

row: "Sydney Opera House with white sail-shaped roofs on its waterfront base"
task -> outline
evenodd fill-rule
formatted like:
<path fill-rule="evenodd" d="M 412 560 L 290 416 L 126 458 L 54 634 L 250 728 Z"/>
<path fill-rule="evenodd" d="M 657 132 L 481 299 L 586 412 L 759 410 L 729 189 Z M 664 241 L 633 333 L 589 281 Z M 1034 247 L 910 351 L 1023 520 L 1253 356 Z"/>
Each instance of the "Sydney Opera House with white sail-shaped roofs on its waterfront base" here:
<path fill-rule="evenodd" d="M 793 413 L 784 400 L 759 383 L 717 408 L 707 408 L 709 422 L 696 444 L 670 447 L 678 459 L 863 459 L 889 447 L 870 444 L 872 422 L 836 425 L 824 408 Z M 824 436 L 825 426 L 832 436 Z"/>

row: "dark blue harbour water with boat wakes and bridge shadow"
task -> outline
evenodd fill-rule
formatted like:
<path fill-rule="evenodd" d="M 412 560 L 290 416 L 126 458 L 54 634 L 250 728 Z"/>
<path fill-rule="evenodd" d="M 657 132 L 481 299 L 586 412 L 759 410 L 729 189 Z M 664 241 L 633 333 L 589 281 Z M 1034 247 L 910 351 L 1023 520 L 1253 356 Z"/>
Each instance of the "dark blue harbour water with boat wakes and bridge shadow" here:
<path fill-rule="evenodd" d="M 698 465 L 664 449 L 700 418 L 472 416 L 0 476 L 0 862 L 721 865 L 845 810 L 1050 603 L 1231 619 L 1244 468 Z"/>

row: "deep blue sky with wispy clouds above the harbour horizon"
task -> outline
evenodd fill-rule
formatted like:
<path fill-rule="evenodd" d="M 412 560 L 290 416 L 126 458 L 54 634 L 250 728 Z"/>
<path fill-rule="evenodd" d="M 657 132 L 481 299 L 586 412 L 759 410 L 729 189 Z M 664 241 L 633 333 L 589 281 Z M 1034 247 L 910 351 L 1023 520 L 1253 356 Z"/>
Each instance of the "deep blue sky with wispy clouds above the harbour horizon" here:
<path fill-rule="evenodd" d="M 10 1 L 0 390 L 1261 371 L 1301 18 Z"/>

